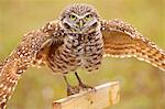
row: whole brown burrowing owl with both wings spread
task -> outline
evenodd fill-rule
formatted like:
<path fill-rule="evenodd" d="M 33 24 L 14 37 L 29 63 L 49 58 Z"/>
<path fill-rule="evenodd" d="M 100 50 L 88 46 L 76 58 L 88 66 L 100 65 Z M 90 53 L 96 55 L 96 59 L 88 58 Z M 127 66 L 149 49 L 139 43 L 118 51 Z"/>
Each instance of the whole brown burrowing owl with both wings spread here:
<path fill-rule="evenodd" d="M 165 70 L 165 53 L 121 20 L 102 20 L 88 4 L 72 4 L 58 20 L 25 34 L 19 46 L 0 64 L 0 107 L 3 109 L 23 72 L 32 65 L 47 65 L 63 74 L 68 95 L 90 88 L 76 69 L 99 68 L 103 56 L 136 57 Z M 72 87 L 65 74 L 74 72 L 79 86 Z"/>

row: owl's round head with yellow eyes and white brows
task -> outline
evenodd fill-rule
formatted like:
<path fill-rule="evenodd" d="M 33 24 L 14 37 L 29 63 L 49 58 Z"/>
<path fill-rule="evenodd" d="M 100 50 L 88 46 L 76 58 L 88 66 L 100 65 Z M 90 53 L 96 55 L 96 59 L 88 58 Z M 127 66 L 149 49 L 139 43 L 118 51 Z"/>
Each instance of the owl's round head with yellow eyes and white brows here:
<path fill-rule="evenodd" d="M 100 28 L 99 14 L 89 4 L 76 3 L 67 7 L 59 20 L 67 33 L 89 33 Z"/>

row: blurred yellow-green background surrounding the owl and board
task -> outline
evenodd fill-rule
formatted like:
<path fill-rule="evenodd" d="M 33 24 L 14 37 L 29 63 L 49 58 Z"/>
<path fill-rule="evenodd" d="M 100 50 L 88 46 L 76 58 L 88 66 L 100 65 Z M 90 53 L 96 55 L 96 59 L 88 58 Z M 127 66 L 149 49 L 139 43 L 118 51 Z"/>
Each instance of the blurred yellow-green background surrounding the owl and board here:
<path fill-rule="evenodd" d="M 165 48 L 164 0 L 0 0 L 0 62 L 21 41 L 21 36 L 58 19 L 68 4 L 84 2 L 97 8 L 103 19 L 122 19 L 151 41 Z M 165 73 L 135 58 L 105 58 L 100 70 L 81 78 L 89 85 L 121 81 L 121 100 L 107 109 L 165 109 Z M 68 75 L 73 85 L 73 74 Z M 12 96 L 10 109 L 52 109 L 53 100 L 66 96 L 61 76 L 45 68 L 29 68 Z"/>

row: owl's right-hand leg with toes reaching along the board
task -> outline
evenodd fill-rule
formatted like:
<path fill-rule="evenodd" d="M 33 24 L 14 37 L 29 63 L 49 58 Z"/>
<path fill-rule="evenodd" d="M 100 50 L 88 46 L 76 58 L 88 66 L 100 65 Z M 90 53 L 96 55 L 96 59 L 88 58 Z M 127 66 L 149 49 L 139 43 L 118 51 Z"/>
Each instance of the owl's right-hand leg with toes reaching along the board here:
<path fill-rule="evenodd" d="M 76 75 L 76 78 L 77 78 L 77 80 L 78 80 L 79 90 L 85 90 L 85 89 L 86 89 L 86 90 L 88 90 L 88 89 L 94 89 L 94 90 L 96 90 L 94 87 L 84 84 L 84 83 L 81 81 L 80 77 L 78 76 L 77 72 L 75 72 L 75 75 Z"/>

